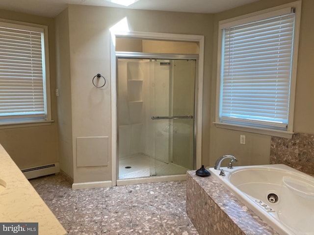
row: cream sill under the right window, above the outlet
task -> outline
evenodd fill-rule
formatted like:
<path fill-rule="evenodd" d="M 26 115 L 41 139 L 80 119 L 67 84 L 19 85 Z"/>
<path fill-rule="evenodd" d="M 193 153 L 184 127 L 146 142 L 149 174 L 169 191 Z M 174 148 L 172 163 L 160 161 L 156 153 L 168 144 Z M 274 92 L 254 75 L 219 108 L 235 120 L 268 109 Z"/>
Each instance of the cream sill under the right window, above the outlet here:
<path fill-rule="evenodd" d="M 262 135 L 268 135 L 268 136 L 276 136 L 276 137 L 282 137 L 282 138 L 287 138 L 287 139 L 291 139 L 293 135 L 293 132 L 289 132 L 289 131 L 279 131 L 279 130 L 258 128 L 258 127 L 247 127 L 247 126 L 221 123 L 221 122 L 213 122 L 213 123 L 215 124 L 217 128 L 224 128 L 224 129 L 229 129 L 229 130 L 243 131 L 243 132 L 262 134 Z"/>

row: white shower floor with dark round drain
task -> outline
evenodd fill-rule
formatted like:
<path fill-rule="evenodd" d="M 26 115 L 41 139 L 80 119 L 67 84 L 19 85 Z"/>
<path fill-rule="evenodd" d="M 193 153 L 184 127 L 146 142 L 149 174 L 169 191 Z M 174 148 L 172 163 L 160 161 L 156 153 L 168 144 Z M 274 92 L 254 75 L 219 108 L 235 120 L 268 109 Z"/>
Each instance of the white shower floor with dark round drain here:
<path fill-rule="evenodd" d="M 150 175 L 180 175 L 186 174 L 187 170 L 183 166 L 166 164 L 144 154 L 135 154 L 119 160 L 119 179 L 149 177 Z"/>

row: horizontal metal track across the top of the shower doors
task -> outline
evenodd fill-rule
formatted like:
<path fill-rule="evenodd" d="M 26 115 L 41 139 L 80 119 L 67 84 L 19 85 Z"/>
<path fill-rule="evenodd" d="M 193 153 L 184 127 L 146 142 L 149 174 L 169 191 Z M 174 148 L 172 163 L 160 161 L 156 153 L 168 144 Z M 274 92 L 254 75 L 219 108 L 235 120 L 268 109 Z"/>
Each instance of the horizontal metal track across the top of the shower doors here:
<path fill-rule="evenodd" d="M 116 51 L 116 58 L 138 58 L 138 59 L 169 59 L 169 60 L 197 60 L 198 54 L 168 54 L 168 53 L 143 53 Z"/>

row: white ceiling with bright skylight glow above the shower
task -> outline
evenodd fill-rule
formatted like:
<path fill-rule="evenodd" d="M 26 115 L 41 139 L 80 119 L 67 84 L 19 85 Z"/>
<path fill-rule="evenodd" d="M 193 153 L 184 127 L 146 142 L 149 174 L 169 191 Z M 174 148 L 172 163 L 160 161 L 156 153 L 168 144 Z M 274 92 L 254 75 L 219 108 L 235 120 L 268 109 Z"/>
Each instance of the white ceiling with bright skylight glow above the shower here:
<path fill-rule="evenodd" d="M 111 1 L 115 0 L 0 0 L 0 9 L 46 17 L 57 16 L 67 7 L 67 4 L 158 11 L 217 13 L 258 0 L 138 0 L 127 7 Z"/>

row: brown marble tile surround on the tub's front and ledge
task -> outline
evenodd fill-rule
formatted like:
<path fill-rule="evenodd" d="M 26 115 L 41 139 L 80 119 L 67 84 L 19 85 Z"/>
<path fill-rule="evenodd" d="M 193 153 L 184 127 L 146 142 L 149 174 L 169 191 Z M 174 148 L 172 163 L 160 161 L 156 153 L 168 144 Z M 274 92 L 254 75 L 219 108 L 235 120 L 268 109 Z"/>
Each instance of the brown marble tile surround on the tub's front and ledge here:
<path fill-rule="evenodd" d="M 213 177 L 187 172 L 186 211 L 200 235 L 278 235 Z"/>

